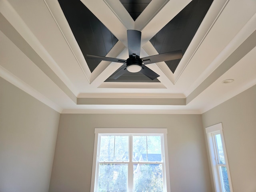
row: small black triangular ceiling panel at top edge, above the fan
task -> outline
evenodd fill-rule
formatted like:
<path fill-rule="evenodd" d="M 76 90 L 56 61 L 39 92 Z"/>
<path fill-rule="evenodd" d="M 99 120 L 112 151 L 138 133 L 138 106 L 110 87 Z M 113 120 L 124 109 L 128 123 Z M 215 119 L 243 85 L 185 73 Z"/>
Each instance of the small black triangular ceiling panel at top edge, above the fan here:
<path fill-rule="evenodd" d="M 120 0 L 120 2 L 135 21 L 151 0 Z"/>

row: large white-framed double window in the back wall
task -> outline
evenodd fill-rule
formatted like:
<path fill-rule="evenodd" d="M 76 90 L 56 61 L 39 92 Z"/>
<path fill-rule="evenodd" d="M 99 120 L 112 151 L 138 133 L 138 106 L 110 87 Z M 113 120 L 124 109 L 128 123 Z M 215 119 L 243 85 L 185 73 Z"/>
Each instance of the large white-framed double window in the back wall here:
<path fill-rule="evenodd" d="M 169 192 L 167 130 L 96 128 L 91 192 Z"/>

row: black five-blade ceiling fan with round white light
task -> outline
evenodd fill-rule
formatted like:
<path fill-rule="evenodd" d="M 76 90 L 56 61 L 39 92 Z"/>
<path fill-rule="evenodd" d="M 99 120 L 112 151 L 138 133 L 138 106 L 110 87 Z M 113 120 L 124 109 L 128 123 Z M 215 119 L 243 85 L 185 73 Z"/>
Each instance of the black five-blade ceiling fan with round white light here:
<path fill-rule="evenodd" d="M 141 32 L 137 30 L 127 30 L 127 40 L 129 58 L 126 60 L 96 55 L 87 55 L 86 58 L 123 63 L 124 65 L 111 76 L 112 79 L 117 79 L 128 70 L 132 73 L 141 72 L 152 80 L 159 77 L 159 75 L 148 68 L 146 64 L 182 58 L 181 50 L 140 58 Z"/>

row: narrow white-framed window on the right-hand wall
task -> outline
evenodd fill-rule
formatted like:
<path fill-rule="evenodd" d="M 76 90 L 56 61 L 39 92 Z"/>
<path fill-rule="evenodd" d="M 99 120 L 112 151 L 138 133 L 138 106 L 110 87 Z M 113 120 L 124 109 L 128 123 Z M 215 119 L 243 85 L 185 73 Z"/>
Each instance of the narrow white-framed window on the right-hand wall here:
<path fill-rule="evenodd" d="M 222 124 L 206 128 L 216 192 L 232 192 Z"/>

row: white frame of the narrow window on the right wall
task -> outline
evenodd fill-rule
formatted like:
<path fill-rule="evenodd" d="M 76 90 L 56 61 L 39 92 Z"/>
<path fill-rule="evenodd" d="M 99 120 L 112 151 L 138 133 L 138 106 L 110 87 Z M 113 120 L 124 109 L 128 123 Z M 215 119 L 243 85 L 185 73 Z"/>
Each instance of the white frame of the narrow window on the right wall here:
<path fill-rule="evenodd" d="M 220 134 L 220 137 L 221 137 L 222 149 L 223 149 L 224 158 L 225 158 L 225 164 L 220 164 L 219 160 L 218 160 L 217 144 L 216 144 L 216 139 L 215 139 L 216 134 Z M 211 165 L 212 165 L 212 173 L 213 173 L 213 178 L 214 178 L 215 192 L 224 192 L 224 190 L 222 188 L 223 184 L 222 184 L 221 173 L 220 173 L 220 169 L 219 169 L 221 166 L 225 166 L 227 169 L 230 192 L 233 192 L 232 182 L 231 182 L 231 177 L 230 177 L 230 170 L 229 170 L 229 166 L 228 166 L 228 157 L 227 157 L 227 153 L 226 153 L 226 146 L 225 146 L 224 135 L 223 135 L 222 123 L 207 127 L 206 135 L 207 135 L 208 147 L 209 147 L 209 152 L 210 152 L 210 160 L 211 160 Z"/>

